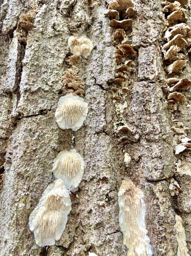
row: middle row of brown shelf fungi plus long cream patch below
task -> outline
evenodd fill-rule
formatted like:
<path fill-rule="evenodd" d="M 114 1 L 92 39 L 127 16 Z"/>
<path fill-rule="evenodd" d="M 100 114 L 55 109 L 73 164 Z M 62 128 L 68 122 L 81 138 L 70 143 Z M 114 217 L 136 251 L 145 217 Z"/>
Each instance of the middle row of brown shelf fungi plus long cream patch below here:
<path fill-rule="evenodd" d="M 115 29 L 113 45 L 116 47 L 116 74 L 110 83 L 113 86 L 113 101 L 116 103 L 118 122 L 114 124 L 116 137 L 126 140 L 132 137 L 136 141 L 133 131 L 128 127 L 122 113 L 118 111 L 118 101 L 126 104 L 127 94 L 130 93 L 129 77 L 133 78 L 135 68 L 134 59 L 137 52 L 130 45 L 131 25 L 137 11 L 131 0 L 112 1 L 105 13 L 110 18 L 109 25 Z M 128 136 L 126 136 L 128 135 Z M 123 232 L 123 243 L 128 246 L 128 255 L 152 255 L 150 239 L 146 235 L 144 194 L 136 188 L 130 179 L 123 180 L 118 192 L 119 225 Z M 131 217 L 132 220 L 131 220 Z M 140 225 L 142 223 L 142 225 Z"/>

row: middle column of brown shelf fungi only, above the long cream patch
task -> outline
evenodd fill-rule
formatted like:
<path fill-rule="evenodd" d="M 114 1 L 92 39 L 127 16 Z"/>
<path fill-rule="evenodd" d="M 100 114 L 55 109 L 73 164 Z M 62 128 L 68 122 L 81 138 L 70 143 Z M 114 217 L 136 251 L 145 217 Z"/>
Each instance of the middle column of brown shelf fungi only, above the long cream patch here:
<path fill-rule="evenodd" d="M 137 10 L 131 0 L 112 1 L 105 13 L 111 20 L 109 25 L 115 29 L 112 36 L 113 45 L 116 47 L 116 74 L 115 78 L 109 83 L 112 85 L 113 101 L 117 102 L 127 97 L 130 93 L 129 77 L 135 72 L 135 63 L 137 52 L 130 45 L 131 26 L 133 18 L 137 16 Z M 125 118 L 121 113 L 117 113 L 117 137 L 129 133 L 129 128 Z M 125 133 L 124 133 L 125 132 Z M 122 136 L 125 138 L 126 136 Z"/>

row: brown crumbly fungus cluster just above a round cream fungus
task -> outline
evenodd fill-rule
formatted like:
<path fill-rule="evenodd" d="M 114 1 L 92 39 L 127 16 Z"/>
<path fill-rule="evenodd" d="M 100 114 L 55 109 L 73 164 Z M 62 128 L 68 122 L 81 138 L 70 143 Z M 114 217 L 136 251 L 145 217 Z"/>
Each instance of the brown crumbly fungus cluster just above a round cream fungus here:
<path fill-rule="evenodd" d="M 62 76 L 62 90 L 63 92 L 68 92 L 68 89 L 73 89 L 72 92 L 77 92 L 77 90 L 83 90 L 84 89 L 84 81 L 83 78 L 79 77 L 77 75 L 78 70 L 74 69 L 67 69 L 63 76 Z M 65 91 L 66 90 L 66 91 Z M 83 90 L 84 91 L 84 90 Z"/>

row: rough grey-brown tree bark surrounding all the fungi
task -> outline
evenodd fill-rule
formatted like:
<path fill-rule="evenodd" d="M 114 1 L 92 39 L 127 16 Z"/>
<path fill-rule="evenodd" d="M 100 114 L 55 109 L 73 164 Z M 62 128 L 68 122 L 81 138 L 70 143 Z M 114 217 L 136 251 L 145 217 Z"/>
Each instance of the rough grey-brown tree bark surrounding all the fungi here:
<path fill-rule="evenodd" d="M 107 2 L 38 1 L 36 28 L 29 32 L 26 46 L 15 35 L 17 22 L 21 13 L 37 3 L 0 3 L 0 254 L 127 255 L 118 222 L 117 193 L 122 179 L 128 177 L 145 195 L 153 255 L 177 254 L 175 213 L 185 223 L 191 253 L 191 158 L 189 151 L 174 155 L 178 134 L 171 129 L 178 119 L 191 136 L 191 91 L 185 91 L 187 102 L 179 104 L 178 110 L 168 109 L 162 90 L 168 76 L 161 52 L 167 25 L 161 1 L 134 1 L 138 17 L 131 40 L 138 52 L 136 72 L 129 75 L 131 92 L 119 101 L 113 100 L 111 91 L 116 61 L 113 29 L 104 16 Z M 191 25 L 189 13 L 187 17 Z M 90 57 L 77 65 L 85 81 L 89 112 L 76 132 L 60 129 L 54 117 L 62 96 L 61 77 L 70 67 L 67 40 L 73 33 L 86 35 L 94 44 Z M 190 70 L 189 60 L 177 77 L 191 78 Z M 116 137 L 118 122 L 126 122 L 131 132 Z M 55 179 L 53 159 L 71 147 L 84 157 L 83 180 L 72 191 L 72 211 L 61 239 L 55 246 L 40 248 L 29 230 L 28 217 Z M 128 167 L 125 153 L 131 157 Z M 172 177 L 182 188 L 175 196 L 169 192 Z"/>

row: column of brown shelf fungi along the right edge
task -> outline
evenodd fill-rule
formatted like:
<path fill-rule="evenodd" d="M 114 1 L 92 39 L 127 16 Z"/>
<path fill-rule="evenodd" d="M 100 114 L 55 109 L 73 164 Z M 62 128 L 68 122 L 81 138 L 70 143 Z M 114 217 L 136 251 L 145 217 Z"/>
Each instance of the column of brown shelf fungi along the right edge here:
<path fill-rule="evenodd" d="M 185 23 L 187 21 L 186 9 L 183 7 L 187 4 L 187 0 L 162 2 L 163 13 L 168 21 L 168 28 L 164 34 L 167 43 L 162 47 L 164 66 L 168 76 L 164 92 L 168 99 L 168 106 L 172 111 L 177 110 L 180 102 L 187 104 L 183 90 L 191 85 L 188 78 L 178 78 L 178 75 L 185 68 L 191 52 L 191 28 Z M 179 123 L 175 119 L 174 131 L 179 128 L 183 129 L 183 124 L 181 124 L 181 127 L 177 126 Z M 191 147 L 191 140 L 187 138 L 186 129 L 184 129 L 182 138 L 179 138 L 178 141 L 181 143 L 175 147 L 176 155 Z"/>

